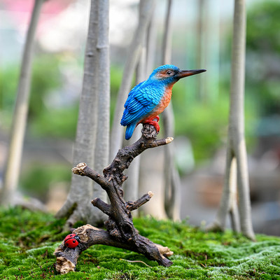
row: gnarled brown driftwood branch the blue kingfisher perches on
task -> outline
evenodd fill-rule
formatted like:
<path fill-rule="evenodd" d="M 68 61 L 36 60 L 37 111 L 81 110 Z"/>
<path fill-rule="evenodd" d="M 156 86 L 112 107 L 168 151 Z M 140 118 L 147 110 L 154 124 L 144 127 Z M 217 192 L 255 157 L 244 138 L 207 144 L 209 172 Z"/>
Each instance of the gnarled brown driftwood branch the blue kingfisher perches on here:
<path fill-rule="evenodd" d="M 104 244 L 124 248 L 141 253 L 150 260 L 156 260 L 160 265 L 169 267 L 172 261 L 167 257 L 173 252 L 169 248 L 155 244 L 148 238 L 139 235 L 132 222 L 131 211 L 138 209 L 148 202 L 153 196 L 152 192 L 143 195 L 135 202 L 125 202 L 123 199 L 123 182 L 127 176 L 123 171 L 130 167 L 132 160 L 148 148 L 154 148 L 169 144 L 172 137 L 157 140 L 157 133 L 153 125 L 144 125 L 141 138 L 132 144 L 120 149 L 109 167 L 103 170 L 104 176 L 94 172 L 85 163 L 80 163 L 72 169 L 74 174 L 87 176 L 98 183 L 109 196 L 111 204 L 100 200 L 98 197 L 92 200 L 94 207 L 108 215 L 104 223 L 106 230 L 99 230 L 92 225 L 83 225 L 73 230 L 72 233 L 80 237 L 80 243 L 76 248 L 66 248 L 64 242 L 55 250 L 57 257 L 57 272 L 65 274 L 74 271 L 78 256 L 82 251 L 94 244 Z"/>

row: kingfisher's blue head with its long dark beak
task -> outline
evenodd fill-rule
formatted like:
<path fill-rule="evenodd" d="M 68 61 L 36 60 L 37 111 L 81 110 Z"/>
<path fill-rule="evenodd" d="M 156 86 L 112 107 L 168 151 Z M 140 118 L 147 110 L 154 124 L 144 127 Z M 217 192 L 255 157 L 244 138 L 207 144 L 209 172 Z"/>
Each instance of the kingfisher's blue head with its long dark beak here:
<path fill-rule="evenodd" d="M 151 73 L 149 80 L 158 81 L 168 85 L 176 83 L 181 78 L 202 73 L 204 71 L 206 70 L 180 70 L 177 66 L 174 66 L 172 64 L 165 64 L 156 68 L 153 73 Z"/>

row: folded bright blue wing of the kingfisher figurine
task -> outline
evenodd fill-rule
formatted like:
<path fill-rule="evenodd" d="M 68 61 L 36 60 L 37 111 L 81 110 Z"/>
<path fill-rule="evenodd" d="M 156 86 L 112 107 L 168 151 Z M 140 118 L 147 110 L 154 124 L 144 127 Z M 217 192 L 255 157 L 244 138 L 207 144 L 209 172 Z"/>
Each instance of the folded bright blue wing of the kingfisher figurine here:
<path fill-rule="evenodd" d="M 153 85 L 143 83 L 137 85 L 128 94 L 125 102 L 125 111 L 120 124 L 123 126 L 139 122 L 141 118 L 148 115 L 160 103 L 163 90 Z"/>

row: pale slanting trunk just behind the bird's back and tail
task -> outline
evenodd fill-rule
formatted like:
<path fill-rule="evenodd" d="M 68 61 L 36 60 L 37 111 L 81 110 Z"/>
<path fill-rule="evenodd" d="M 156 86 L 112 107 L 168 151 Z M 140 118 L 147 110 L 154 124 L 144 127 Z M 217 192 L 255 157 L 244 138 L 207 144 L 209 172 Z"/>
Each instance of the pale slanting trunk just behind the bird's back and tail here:
<path fill-rule="evenodd" d="M 123 144 L 123 132 L 124 128 L 120 125 L 120 119 L 123 115 L 124 104 L 127 98 L 127 94 L 131 90 L 132 78 L 136 69 L 139 57 L 141 55 L 141 49 L 144 45 L 144 39 L 148 29 L 148 24 L 151 22 L 151 16 L 153 14 L 153 7 L 155 6 L 155 0 L 141 0 L 139 5 L 139 23 L 137 30 L 134 33 L 132 43 L 127 52 L 127 60 L 125 62 L 125 69 L 123 71 L 123 80 L 118 91 L 118 100 L 113 118 L 113 127 L 111 132 L 111 145 L 110 145 L 110 161 L 113 160 L 118 149 Z"/>

